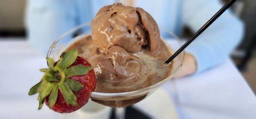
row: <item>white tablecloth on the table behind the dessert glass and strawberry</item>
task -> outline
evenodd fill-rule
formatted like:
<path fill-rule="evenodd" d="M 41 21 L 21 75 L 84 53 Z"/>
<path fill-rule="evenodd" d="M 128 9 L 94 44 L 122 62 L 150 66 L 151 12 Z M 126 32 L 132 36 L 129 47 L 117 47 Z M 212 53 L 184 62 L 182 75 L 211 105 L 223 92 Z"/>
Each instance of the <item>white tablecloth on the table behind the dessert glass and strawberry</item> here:
<path fill-rule="evenodd" d="M 0 40 L 0 119 L 61 119 L 43 108 L 29 88 L 42 77 L 45 56 L 26 41 Z M 181 119 L 256 119 L 256 97 L 230 59 L 202 74 L 168 81 L 163 88 Z M 164 103 L 164 102 L 162 102 Z"/>

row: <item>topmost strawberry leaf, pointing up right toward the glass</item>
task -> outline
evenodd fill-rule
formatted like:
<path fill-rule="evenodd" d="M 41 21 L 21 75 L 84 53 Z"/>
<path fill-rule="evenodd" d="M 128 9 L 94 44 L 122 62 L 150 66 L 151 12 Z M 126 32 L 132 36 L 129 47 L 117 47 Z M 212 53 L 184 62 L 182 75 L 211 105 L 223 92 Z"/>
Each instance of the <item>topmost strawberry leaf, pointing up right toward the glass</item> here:
<path fill-rule="evenodd" d="M 57 63 L 56 67 L 65 69 L 76 61 L 76 57 L 77 57 L 77 50 L 72 49 L 68 51 L 67 54 L 64 55 L 63 59 L 61 59 Z"/>

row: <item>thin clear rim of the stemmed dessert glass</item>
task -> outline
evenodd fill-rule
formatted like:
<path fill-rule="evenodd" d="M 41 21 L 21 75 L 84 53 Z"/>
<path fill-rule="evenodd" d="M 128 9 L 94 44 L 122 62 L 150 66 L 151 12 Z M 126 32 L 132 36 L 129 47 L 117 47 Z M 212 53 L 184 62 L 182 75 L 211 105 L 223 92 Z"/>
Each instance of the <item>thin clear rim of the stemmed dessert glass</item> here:
<path fill-rule="evenodd" d="M 55 44 L 60 41 L 64 36 L 66 36 L 67 34 L 70 34 L 73 31 L 76 31 L 80 28 L 83 28 L 85 26 L 90 26 L 90 23 L 82 23 L 79 26 L 76 26 L 74 28 L 71 28 L 69 31 L 65 32 L 64 34 L 62 34 L 60 37 L 58 37 L 50 46 L 48 53 L 47 53 L 47 57 L 50 57 L 50 54 L 52 53 L 52 49 L 55 48 Z M 164 27 L 163 27 L 164 28 Z M 181 44 L 180 38 L 177 37 L 172 31 L 167 30 L 166 28 L 164 28 L 164 31 L 166 31 L 168 34 L 170 34 L 172 37 L 174 37 L 175 39 L 177 39 L 178 43 Z M 164 41 L 164 40 L 163 40 Z M 165 41 L 164 41 L 165 42 Z M 165 42 L 166 43 L 166 42 Z M 167 44 L 167 43 L 166 43 Z M 168 44 L 167 44 L 168 45 Z M 136 94 L 139 92 L 145 92 L 148 91 L 151 88 L 157 87 L 158 85 L 163 84 L 164 82 L 166 82 L 167 80 L 171 79 L 175 74 L 177 74 L 177 72 L 180 70 L 180 68 L 183 65 L 183 61 L 184 61 L 184 55 L 185 55 L 185 51 L 182 51 L 179 55 L 182 55 L 182 60 L 181 63 L 179 64 L 178 68 L 168 77 L 166 77 L 165 79 L 161 80 L 160 82 L 157 82 L 153 85 L 150 85 L 146 88 L 142 88 L 140 90 L 136 90 L 136 91 L 128 91 L 128 92 L 121 92 L 121 93 L 101 93 L 101 92 L 91 92 L 90 96 L 93 97 L 115 97 L 115 96 L 125 96 L 125 95 L 132 95 L 132 94 Z"/>

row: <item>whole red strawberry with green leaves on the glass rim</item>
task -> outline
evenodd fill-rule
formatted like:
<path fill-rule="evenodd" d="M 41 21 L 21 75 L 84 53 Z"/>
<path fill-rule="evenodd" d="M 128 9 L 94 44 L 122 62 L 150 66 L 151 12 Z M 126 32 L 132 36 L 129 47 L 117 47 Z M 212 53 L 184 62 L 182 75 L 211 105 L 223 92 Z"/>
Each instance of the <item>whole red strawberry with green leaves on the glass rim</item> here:
<path fill-rule="evenodd" d="M 96 76 L 84 58 L 77 56 L 75 49 L 61 54 L 58 62 L 47 57 L 49 68 L 41 82 L 33 86 L 29 95 L 39 93 L 39 108 L 43 103 L 58 113 L 70 113 L 84 106 L 90 93 L 96 88 Z"/>

